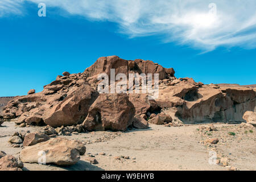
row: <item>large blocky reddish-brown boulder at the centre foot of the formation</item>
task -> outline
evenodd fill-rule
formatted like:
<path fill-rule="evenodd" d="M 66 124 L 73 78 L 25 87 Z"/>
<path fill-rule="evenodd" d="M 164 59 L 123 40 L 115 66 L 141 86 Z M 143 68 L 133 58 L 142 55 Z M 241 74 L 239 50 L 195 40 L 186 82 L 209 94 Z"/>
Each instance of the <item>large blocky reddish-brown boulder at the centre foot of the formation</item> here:
<path fill-rule="evenodd" d="M 127 94 L 100 94 L 82 125 L 89 131 L 125 131 L 132 124 L 134 113 Z"/>

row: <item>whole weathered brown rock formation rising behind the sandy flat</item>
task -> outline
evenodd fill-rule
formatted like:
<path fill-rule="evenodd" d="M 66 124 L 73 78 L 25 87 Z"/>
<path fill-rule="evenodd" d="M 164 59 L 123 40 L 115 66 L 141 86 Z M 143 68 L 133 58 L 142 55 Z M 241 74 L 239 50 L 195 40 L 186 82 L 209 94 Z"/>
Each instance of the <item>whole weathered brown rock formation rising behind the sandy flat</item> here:
<path fill-rule="evenodd" d="M 115 69 L 115 76 L 123 73 L 127 79 L 129 73 L 152 73 L 154 80 L 154 73 L 158 73 L 159 97 L 148 100 L 148 94 L 142 92 L 98 93 L 102 80 L 97 77 L 106 73 L 110 79 L 110 69 Z M 18 125 L 60 127 L 83 123 L 86 130 L 123 131 L 128 126 L 147 127 L 148 119 L 157 124 L 167 122 L 163 115 L 169 115 L 172 122 L 244 122 L 245 111 L 254 111 L 255 88 L 204 85 L 192 78 L 178 79 L 174 74 L 174 69 L 149 60 L 100 57 L 83 73 L 64 72 L 42 92 L 15 97 L 0 118 L 15 119 Z"/>

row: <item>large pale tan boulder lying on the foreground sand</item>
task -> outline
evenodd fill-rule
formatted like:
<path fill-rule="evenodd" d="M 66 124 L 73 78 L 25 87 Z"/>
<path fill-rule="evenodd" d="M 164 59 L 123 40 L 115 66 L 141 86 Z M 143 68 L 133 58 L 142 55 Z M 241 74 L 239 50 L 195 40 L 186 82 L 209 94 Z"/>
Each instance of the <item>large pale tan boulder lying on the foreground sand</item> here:
<path fill-rule="evenodd" d="M 19 158 L 26 163 L 53 163 L 60 166 L 70 166 L 80 160 L 86 148 L 77 140 L 66 138 L 53 138 L 47 142 L 41 142 L 28 146 L 20 151 Z M 45 161 L 44 161 L 45 159 Z"/>

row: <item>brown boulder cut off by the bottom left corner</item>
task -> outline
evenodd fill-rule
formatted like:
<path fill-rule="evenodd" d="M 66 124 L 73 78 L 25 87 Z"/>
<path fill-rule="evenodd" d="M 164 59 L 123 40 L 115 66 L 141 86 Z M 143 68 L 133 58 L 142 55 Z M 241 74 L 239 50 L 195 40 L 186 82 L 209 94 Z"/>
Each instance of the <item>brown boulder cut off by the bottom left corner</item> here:
<path fill-rule="evenodd" d="M 6 155 L 0 159 L 0 171 L 22 171 L 23 163 L 14 156 Z"/>

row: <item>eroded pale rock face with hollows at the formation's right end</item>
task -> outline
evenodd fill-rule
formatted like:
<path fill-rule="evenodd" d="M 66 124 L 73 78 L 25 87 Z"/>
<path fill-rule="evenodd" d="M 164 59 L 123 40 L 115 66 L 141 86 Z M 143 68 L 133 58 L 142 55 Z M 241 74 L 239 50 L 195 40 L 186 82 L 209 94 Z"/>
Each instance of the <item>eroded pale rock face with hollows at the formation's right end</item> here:
<path fill-rule="evenodd" d="M 212 87 L 182 78 L 171 86 L 159 87 L 156 103 L 177 121 L 243 122 L 243 113 L 255 107 L 251 88 Z"/>

